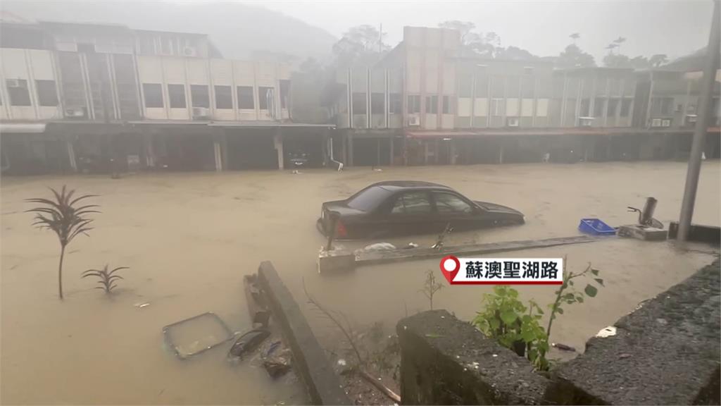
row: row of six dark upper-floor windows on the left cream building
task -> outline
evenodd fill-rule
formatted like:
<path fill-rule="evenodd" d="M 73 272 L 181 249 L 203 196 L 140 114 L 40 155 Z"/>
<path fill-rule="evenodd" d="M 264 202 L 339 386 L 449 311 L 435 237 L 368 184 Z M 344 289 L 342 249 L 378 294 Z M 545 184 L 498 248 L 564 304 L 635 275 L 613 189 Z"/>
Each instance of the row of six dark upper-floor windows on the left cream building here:
<path fill-rule="evenodd" d="M 168 103 L 170 108 L 186 108 L 185 102 L 185 85 L 167 85 Z M 228 85 L 216 85 L 215 90 L 215 108 L 216 109 L 232 109 L 233 96 L 232 87 Z M 143 83 L 143 96 L 145 98 L 146 108 L 164 108 L 163 87 L 159 83 Z M 254 109 L 255 95 L 252 86 L 236 86 L 236 96 L 239 109 Z M 273 105 L 275 97 L 274 87 L 258 87 L 258 107 L 261 110 L 268 110 Z M 190 85 L 190 104 L 193 107 L 210 108 L 210 95 L 208 94 L 208 85 Z"/>

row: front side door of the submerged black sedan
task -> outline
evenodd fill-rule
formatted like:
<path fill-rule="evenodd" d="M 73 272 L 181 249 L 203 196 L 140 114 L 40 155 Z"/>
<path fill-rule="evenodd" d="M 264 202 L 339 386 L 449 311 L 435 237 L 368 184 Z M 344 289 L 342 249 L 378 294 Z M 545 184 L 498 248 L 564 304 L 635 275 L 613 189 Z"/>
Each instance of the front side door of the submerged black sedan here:
<path fill-rule="evenodd" d="M 485 216 L 481 209 L 463 196 L 451 191 L 433 191 L 433 203 L 437 214 L 437 228 L 441 230 L 450 223 L 456 231 L 484 227 Z"/>

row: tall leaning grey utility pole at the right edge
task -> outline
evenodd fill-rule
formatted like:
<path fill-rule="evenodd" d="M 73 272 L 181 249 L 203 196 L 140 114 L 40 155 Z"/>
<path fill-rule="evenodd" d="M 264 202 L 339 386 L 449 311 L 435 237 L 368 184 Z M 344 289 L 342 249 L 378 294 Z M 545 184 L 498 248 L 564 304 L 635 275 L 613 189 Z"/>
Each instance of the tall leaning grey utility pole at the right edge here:
<path fill-rule="evenodd" d="M 711 34 L 709 45 L 706 48 L 706 64 L 704 75 L 701 78 L 701 95 L 699 96 L 699 116 L 694 128 L 694 140 L 691 144 L 691 155 L 689 156 L 689 169 L 686 172 L 686 186 L 684 188 L 684 200 L 681 202 L 681 217 L 678 220 L 678 241 L 686 241 L 689 238 L 691 218 L 694 217 L 694 204 L 696 203 L 696 189 L 699 187 L 699 173 L 701 172 L 701 155 L 704 150 L 706 133 L 709 128 L 709 112 L 711 110 L 711 95 L 716 71 L 719 69 L 719 49 L 721 27 L 719 26 L 719 1 L 714 0 L 714 14 L 711 20 Z"/>

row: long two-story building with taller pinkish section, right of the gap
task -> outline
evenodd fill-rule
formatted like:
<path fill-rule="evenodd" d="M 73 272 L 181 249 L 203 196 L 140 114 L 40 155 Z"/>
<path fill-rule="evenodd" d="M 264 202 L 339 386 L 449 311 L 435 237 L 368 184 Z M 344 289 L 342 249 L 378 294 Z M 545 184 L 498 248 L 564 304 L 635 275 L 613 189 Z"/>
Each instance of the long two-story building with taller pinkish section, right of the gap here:
<path fill-rule="evenodd" d="M 554 69 L 460 48 L 455 30 L 404 27 L 383 60 L 339 69 L 337 155 L 349 165 L 423 165 L 668 159 L 689 150 L 698 77 Z M 718 157 L 718 145 L 710 131 L 707 157 Z"/>

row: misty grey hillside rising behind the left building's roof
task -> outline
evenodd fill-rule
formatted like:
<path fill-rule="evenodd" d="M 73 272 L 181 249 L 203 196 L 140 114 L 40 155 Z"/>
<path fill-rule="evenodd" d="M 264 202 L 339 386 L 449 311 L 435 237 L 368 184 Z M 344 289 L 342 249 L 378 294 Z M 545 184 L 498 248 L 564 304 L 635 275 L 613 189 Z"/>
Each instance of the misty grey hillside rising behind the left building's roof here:
<path fill-rule="evenodd" d="M 231 59 L 247 58 L 255 51 L 324 59 L 336 40 L 327 31 L 280 12 L 229 1 L 4 0 L 0 8 L 31 22 L 107 22 L 141 30 L 205 33 Z"/>

